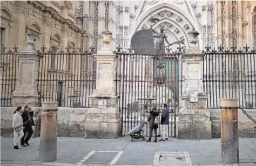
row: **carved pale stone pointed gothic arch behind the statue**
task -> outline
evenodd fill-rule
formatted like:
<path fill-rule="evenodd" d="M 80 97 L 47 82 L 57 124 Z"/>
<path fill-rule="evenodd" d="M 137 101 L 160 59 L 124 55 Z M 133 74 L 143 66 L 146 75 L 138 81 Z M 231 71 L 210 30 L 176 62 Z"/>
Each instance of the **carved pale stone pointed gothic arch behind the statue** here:
<path fill-rule="evenodd" d="M 150 18 L 152 15 L 160 15 L 161 12 L 165 12 L 166 16 L 159 16 L 160 19 L 163 19 L 163 17 L 166 17 L 166 19 L 169 19 L 169 22 L 172 22 L 175 24 L 177 29 L 184 33 L 184 38 L 186 39 L 186 43 L 188 44 L 188 35 L 187 32 L 195 29 L 196 31 L 200 32 L 200 28 L 198 23 L 193 19 L 193 17 L 190 15 L 190 13 L 186 12 L 185 10 L 179 8 L 178 6 L 167 3 L 167 2 L 159 2 L 157 4 L 152 5 L 149 9 L 142 12 L 140 16 L 134 21 L 134 24 L 131 27 L 130 30 L 130 41 L 133 34 L 144 28 L 149 28 L 150 26 Z M 201 34 L 198 36 L 199 44 L 201 44 Z M 199 45 L 201 48 L 202 46 Z"/>

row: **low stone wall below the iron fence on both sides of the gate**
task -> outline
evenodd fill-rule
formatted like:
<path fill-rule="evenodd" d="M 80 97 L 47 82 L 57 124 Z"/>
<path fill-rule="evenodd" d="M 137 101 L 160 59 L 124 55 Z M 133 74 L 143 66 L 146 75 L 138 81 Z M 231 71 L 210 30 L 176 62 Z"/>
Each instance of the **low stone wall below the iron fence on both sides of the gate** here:
<path fill-rule="evenodd" d="M 32 108 L 35 112 L 38 108 Z M 58 108 L 58 136 L 84 137 L 87 119 L 87 112 L 93 108 Z M 14 107 L 1 107 L 1 129 L 11 128 L 12 115 Z M 256 119 L 256 110 L 246 110 L 252 118 Z M 238 110 L 239 114 L 239 132 L 241 137 L 256 137 L 256 124 Z M 212 122 L 212 137 L 220 137 L 220 110 L 210 109 Z M 39 136 L 39 121 L 36 117 L 35 136 Z M 8 132 L 3 136 L 12 136 L 13 133 Z"/>

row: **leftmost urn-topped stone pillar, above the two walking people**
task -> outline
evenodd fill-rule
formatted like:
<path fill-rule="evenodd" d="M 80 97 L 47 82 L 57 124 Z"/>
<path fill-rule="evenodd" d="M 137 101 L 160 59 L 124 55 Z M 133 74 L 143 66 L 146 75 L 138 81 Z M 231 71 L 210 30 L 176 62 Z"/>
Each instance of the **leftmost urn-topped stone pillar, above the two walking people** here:
<path fill-rule="evenodd" d="M 18 86 L 12 93 L 12 103 L 14 107 L 26 106 L 38 107 L 40 104 L 37 92 L 37 78 L 39 70 L 39 60 L 42 57 L 34 47 L 36 35 L 32 32 L 26 32 L 27 47 L 18 53 Z"/>

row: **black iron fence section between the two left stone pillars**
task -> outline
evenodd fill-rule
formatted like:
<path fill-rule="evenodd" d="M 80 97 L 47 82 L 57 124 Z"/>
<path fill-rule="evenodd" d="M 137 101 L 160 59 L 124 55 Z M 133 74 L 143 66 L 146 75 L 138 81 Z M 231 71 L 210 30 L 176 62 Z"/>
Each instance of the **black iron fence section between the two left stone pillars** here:
<path fill-rule="evenodd" d="M 43 58 L 38 68 L 40 100 L 56 101 L 58 107 L 90 107 L 89 96 L 96 87 L 96 58 L 93 49 L 84 51 L 55 47 L 38 51 Z"/>

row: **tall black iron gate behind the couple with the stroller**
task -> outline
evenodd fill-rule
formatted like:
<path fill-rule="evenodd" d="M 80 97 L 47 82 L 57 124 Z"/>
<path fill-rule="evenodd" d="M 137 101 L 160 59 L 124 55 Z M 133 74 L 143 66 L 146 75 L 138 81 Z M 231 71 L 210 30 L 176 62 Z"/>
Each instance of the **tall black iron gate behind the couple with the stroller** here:
<path fill-rule="evenodd" d="M 163 103 L 169 107 L 169 136 L 176 137 L 176 117 L 181 95 L 181 53 L 183 50 L 164 55 L 138 54 L 119 48 L 116 65 L 116 95 L 122 110 L 122 135 L 138 125 L 140 119 L 147 122 L 153 105 L 161 110 Z M 160 128 L 159 128 L 160 129 Z M 144 134 L 148 136 L 148 126 Z"/>

